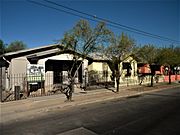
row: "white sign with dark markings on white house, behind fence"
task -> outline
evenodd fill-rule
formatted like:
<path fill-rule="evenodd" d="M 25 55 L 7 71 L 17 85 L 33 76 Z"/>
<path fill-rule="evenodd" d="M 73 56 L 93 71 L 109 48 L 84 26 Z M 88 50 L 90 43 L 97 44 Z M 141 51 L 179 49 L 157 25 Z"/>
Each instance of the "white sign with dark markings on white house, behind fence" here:
<path fill-rule="evenodd" d="M 41 82 L 44 80 L 45 66 L 40 64 L 27 65 L 27 81 Z"/>

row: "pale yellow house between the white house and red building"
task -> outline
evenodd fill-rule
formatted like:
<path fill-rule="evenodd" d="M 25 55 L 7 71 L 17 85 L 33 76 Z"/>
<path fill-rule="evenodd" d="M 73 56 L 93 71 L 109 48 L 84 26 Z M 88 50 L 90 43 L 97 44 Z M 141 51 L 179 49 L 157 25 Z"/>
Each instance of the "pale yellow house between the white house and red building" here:
<path fill-rule="evenodd" d="M 113 81 L 111 65 L 109 64 L 110 62 L 107 58 L 95 56 L 93 63 L 88 64 L 88 71 L 96 80 Z M 137 61 L 132 55 L 119 63 L 119 68 L 121 71 L 120 85 L 137 84 Z"/>

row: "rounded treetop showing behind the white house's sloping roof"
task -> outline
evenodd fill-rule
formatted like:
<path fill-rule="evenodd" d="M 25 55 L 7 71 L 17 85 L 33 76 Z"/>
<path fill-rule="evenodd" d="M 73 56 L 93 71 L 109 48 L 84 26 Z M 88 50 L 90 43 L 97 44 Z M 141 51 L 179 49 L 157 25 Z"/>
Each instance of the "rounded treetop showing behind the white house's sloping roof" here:
<path fill-rule="evenodd" d="M 7 52 L 15 52 L 15 51 L 19 51 L 19 50 L 23 50 L 25 49 L 27 46 L 25 43 L 23 43 L 22 41 L 13 41 L 11 42 L 7 47 L 6 47 L 6 53 Z"/>

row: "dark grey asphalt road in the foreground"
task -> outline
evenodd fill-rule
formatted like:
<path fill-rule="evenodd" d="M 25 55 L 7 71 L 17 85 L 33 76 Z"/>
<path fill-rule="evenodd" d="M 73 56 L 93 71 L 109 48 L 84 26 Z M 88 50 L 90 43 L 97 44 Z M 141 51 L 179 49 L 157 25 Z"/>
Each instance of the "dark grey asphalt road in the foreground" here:
<path fill-rule="evenodd" d="M 80 127 L 102 135 L 180 135 L 180 88 L 34 115 L 3 123 L 0 132 L 56 135 Z"/>

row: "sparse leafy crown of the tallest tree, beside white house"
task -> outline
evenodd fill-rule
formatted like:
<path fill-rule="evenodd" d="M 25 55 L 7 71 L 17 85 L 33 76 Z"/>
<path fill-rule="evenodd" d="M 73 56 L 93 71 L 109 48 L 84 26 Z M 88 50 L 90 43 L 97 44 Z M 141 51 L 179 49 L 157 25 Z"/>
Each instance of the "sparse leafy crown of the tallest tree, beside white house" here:
<path fill-rule="evenodd" d="M 100 22 L 95 28 L 86 20 L 80 20 L 70 31 L 64 34 L 61 43 L 84 56 L 94 52 L 98 45 L 103 45 L 110 39 L 111 31 L 105 23 Z"/>

